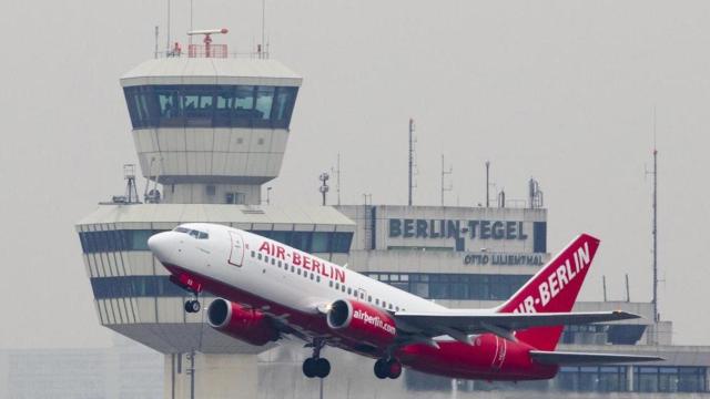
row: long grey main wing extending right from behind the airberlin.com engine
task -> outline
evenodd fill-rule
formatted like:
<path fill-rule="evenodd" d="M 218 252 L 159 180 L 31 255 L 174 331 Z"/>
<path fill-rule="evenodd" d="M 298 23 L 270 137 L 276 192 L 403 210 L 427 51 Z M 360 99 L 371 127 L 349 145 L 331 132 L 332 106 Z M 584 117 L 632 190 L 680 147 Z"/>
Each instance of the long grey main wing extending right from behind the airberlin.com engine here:
<path fill-rule="evenodd" d="M 395 314 L 397 327 L 415 335 L 436 337 L 448 335 L 454 339 L 470 344 L 470 335 L 493 332 L 516 340 L 513 331 L 530 327 L 581 325 L 600 321 L 618 321 L 639 318 L 627 311 L 587 311 L 587 313 L 539 313 L 539 314 L 499 314 L 476 310 L 452 310 L 442 313 Z"/>

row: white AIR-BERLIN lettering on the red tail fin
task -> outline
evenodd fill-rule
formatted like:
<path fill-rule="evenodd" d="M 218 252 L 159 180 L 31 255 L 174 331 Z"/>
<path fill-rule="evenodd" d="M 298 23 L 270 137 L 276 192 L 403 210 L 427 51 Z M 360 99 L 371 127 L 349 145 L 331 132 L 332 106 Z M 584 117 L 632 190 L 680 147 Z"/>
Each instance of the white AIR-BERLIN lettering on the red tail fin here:
<path fill-rule="evenodd" d="M 540 282 L 537 287 L 538 296 L 528 295 L 518 307 L 513 310 L 516 314 L 534 314 L 537 313 L 536 306 L 545 306 L 550 299 L 555 298 L 559 293 L 568 286 L 579 273 L 589 266 L 591 262 L 589 257 L 589 244 L 585 243 L 582 247 L 577 248 L 571 257 L 568 257 L 562 264 L 552 268 L 547 278 Z"/>

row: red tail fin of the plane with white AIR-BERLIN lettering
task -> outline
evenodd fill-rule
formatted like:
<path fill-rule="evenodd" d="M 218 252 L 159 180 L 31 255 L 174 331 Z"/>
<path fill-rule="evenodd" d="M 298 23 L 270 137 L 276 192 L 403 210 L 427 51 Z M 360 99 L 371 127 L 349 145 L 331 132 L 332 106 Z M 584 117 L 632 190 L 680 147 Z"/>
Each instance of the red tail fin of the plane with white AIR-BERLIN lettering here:
<path fill-rule="evenodd" d="M 523 288 L 498 308 L 499 313 L 566 313 L 572 309 L 587 270 L 599 247 L 599 239 L 582 234 Z M 535 327 L 516 332 L 516 338 L 541 350 L 554 350 L 562 326 Z"/>

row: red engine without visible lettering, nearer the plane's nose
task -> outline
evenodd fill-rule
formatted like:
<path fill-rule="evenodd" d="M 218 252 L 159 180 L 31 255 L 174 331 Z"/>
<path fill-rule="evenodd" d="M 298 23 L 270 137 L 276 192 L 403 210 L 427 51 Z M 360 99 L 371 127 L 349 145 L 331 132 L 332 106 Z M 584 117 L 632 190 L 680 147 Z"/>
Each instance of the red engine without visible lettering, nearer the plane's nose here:
<path fill-rule="evenodd" d="M 263 313 L 222 298 L 210 304 L 207 324 L 220 332 L 256 346 L 278 339 L 278 331 Z"/>

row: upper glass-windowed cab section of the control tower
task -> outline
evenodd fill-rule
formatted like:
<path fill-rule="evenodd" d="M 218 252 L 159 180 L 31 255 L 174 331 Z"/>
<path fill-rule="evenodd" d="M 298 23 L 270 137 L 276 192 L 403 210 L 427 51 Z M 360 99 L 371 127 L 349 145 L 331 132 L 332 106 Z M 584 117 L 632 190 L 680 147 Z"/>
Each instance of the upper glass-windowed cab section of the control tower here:
<path fill-rule="evenodd" d="M 170 57 L 123 75 L 141 170 L 162 202 L 260 204 L 301 82 L 277 61 L 239 58 Z"/>

